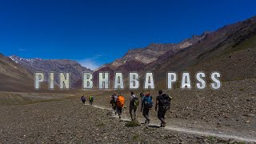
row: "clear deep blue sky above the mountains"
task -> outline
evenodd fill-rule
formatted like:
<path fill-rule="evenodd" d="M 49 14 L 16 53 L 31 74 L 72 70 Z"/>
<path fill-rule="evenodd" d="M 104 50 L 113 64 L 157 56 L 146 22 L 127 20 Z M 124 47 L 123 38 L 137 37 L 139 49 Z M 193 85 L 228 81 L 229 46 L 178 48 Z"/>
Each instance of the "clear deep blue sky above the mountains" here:
<path fill-rule="evenodd" d="M 250 18 L 256 1 L 3 0 L 0 52 L 22 58 L 66 58 L 89 67 L 152 42 Z"/>

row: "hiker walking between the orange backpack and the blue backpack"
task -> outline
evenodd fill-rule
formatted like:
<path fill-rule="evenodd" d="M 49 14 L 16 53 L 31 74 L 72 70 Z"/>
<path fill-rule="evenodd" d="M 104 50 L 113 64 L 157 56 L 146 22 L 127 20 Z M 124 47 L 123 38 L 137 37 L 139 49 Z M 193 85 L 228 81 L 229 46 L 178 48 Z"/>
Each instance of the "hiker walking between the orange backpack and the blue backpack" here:
<path fill-rule="evenodd" d="M 132 121 L 136 120 L 136 111 L 137 111 L 137 107 L 139 104 L 139 100 L 138 97 L 134 94 L 134 92 L 130 92 L 130 107 L 129 107 L 129 112 L 130 112 L 130 118 Z M 134 114 L 133 114 L 134 112 Z M 134 115 L 134 117 L 133 117 Z"/>

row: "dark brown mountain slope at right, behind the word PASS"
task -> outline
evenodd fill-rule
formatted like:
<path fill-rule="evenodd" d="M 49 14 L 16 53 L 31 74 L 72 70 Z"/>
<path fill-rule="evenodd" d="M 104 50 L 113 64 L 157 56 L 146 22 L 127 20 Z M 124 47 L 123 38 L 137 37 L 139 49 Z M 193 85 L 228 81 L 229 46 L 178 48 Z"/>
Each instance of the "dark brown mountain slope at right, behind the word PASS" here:
<path fill-rule="evenodd" d="M 195 73 L 196 70 L 205 70 L 207 72 L 217 70 L 222 73 L 223 80 L 251 78 L 250 74 L 244 73 L 250 70 L 254 71 L 254 67 L 252 67 L 254 65 L 251 65 L 255 58 L 254 50 L 239 52 L 239 54 L 232 52 L 248 48 L 254 49 L 256 47 L 255 40 L 256 17 L 230 26 L 224 26 L 214 33 L 207 34 L 206 38 L 203 38 L 193 46 L 178 51 L 176 54 L 171 54 L 165 61 L 157 60 L 151 63 L 146 70 L 154 71 L 155 81 L 161 87 L 166 87 L 167 71 L 194 70 Z M 238 65 L 238 62 L 229 55 L 231 53 L 232 55 L 234 54 L 234 58 L 240 59 L 241 65 Z M 231 58 L 225 59 L 226 57 Z M 226 69 L 227 66 L 230 69 Z M 241 77 L 238 74 L 232 78 L 228 76 L 238 71 L 243 71 L 240 74 Z"/>

